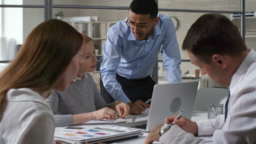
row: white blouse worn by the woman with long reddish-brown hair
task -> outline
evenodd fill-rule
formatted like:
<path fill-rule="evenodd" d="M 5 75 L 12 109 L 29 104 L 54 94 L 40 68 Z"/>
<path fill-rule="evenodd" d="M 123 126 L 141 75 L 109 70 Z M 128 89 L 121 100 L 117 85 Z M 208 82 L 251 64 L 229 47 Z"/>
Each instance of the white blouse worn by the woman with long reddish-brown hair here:
<path fill-rule="evenodd" d="M 55 143 L 53 112 L 39 93 L 28 88 L 10 89 L 4 100 L 1 144 Z"/>

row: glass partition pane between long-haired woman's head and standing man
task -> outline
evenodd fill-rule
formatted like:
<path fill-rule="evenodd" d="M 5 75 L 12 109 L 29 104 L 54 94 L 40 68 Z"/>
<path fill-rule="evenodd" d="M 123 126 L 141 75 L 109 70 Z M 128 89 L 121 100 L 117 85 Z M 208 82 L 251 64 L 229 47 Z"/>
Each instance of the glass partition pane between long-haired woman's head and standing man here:
<path fill-rule="evenodd" d="M 128 16 L 128 10 L 114 9 L 61 9 L 54 8 L 54 13 L 63 14 L 61 19 L 68 22 L 80 33 L 91 37 L 97 55 L 103 55 L 103 45 L 107 39 L 108 29 Z M 56 15 L 53 13 L 54 18 Z"/>

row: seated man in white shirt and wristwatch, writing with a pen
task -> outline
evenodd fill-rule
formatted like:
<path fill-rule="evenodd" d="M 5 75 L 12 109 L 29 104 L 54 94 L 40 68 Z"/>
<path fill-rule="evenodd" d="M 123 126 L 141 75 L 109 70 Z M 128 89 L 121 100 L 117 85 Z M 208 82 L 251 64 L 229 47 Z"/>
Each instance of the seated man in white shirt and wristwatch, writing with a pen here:
<path fill-rule="evenodd" d="M 224 15 L 202 15 L 182 48 L 203 75 L 229 87 L 225 115 L 197 122 L 168 117 L 167 124 L 153 128 L 145 143 L 209 143 L 195 137 L 200 135 L 213 135 L 212 143 L 256 143 L 256 52 L 246 47 L 238 28 Z"/>

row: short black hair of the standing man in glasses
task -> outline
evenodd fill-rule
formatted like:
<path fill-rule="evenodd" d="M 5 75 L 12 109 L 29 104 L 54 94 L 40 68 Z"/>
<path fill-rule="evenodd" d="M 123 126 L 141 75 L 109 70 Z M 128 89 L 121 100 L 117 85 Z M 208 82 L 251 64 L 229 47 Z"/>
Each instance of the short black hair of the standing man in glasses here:
<path fill-rule="evenodd" d="M 150 18 L 158 16 L 158 4 L 155 0 L 133 0 L 130 10 L 135 14 L 150 15 Z"/>

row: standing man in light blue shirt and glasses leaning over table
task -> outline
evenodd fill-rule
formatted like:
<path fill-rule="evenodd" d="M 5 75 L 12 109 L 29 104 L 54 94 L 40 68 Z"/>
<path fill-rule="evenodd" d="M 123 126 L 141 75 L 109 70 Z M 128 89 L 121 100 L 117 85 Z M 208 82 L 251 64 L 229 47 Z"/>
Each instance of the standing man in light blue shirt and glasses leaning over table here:
<path fill-rule="evenodd" d="M 121 100 L 138 115 L 149 107 L 155 82 L 150 77 L 161 50 L 168 82 L 181 82 L 181 54 L 172 20 L 158 14 L 154 0 L 133 0 L 129 17 L 112 26 L 103 47 L 101 94 Z M 162 48 L 161 48 L 162 46 Z"/>

